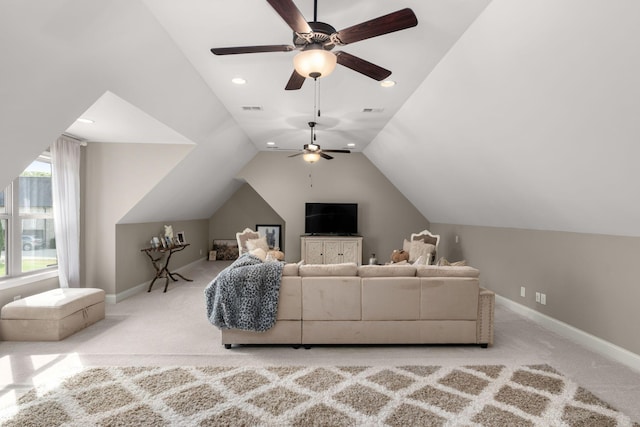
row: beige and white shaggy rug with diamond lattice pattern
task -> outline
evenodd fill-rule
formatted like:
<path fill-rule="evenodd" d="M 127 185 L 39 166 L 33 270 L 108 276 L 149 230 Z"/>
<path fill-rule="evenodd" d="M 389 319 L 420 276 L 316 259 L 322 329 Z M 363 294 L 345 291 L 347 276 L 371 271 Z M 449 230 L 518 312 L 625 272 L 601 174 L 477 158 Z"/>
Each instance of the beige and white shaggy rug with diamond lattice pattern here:
<path fill-rule="evenodd" d="M 3 426 L 638 426 L 547 365 L 92 368 Z"/>

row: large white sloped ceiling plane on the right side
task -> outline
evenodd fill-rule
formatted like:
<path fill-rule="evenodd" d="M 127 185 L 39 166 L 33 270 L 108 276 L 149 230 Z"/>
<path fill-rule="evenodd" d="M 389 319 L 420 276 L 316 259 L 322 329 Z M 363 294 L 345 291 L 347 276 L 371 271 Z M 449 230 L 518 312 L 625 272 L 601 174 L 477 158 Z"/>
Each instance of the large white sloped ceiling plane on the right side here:
<path fill-rule="evenodd" d="M 365 154 L 432 222 L 640 235 L 639 16 L 494 0 Z"/>

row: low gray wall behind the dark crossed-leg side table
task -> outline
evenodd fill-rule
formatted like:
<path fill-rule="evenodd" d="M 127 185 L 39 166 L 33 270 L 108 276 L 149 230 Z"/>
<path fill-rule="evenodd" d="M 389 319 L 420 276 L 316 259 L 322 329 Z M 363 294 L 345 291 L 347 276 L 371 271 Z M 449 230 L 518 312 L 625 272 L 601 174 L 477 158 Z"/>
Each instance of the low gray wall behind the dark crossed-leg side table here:
<path fill-rule="evenodd" d="M 164 235 L 165 224 L 173 227 L 174 235 L 178 231 L 184 231 L 185 239 L 189 243 L 186 249 L 172 255 L 170 271 L 207 256 L 209 222 L 206 219 L 118 224 L 116 225 L 116 295 L 141 283 L 149 282 L 155 277 L 153 265 L 141 249 L 150 246 L 149 241 L 153 236 Z M 155 258 L 159 254 L 153 255 Z M 158 286 L 164 286 L 164 280 L 156 281 L 154 288 Z"/>

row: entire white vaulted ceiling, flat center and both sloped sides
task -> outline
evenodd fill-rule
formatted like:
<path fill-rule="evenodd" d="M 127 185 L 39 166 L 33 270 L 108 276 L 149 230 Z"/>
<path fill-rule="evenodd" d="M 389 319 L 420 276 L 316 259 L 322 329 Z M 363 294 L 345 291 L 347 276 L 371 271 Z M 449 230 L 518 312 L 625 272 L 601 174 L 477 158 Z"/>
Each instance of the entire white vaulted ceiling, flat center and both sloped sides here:
<path fill-rule="evenodd" d="M 313 1 L 295 3 L 311 20 Z M 342 48 L 393 71 L 396 86 L 340 66 L 319 80 L 324 148 L 355 143 L 432 222 L 640 235 L 637 1 L 319 0 L 318 19 L 341 29 L 404 7 L 417 27 Z M 195 181 L 197 197 L 181 195 L 162 214 L 204 218 L 256 151 L 273 149 L 267 142 L 308 141 L 314 84 L 284 90 L 294 52 L 209 52 L 291 43 L 266 1 L 0 9 L 3 185 L 42 150 L 38 141 L 63 131 L 193 144 L 123 221 L 164 220 L 155 207 L 167 191 Z M 75 123 L 82 115 L 96 126 Z M 204 183 L 212 169 L 215 182 Z"/>

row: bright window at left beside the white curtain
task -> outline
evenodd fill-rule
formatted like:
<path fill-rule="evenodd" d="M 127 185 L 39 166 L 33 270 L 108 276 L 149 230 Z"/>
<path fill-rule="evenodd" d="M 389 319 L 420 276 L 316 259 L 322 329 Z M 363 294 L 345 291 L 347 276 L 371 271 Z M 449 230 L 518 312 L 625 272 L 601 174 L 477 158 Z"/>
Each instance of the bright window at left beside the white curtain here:
<path fill-rule="evenodd" d="M 46 152 L 0 192 L 0 279 L 57 265 L 51 173 Z"/>

